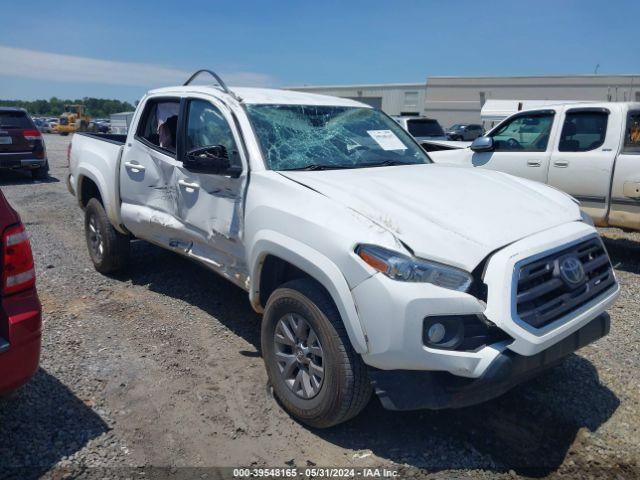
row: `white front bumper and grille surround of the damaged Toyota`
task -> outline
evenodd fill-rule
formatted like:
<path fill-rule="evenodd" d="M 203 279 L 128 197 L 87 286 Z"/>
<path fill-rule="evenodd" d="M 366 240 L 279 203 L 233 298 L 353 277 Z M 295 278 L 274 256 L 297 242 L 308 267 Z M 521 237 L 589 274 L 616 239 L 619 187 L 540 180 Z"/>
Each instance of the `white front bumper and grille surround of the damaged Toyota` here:
<path fill-rule="evenodd" d="M 431 284 L 397 282 L 375 274 L 352 290 L 358 315 L 368 339 L 363 361 L 379 370 L 448 372 L 480 378 L 502 354 L 530 357 L 569 337 L 604 313 L 619 294 L 619 286 L 593 298 L 584 306 L 541 329 L 514 316 L 514 271 L 518 262 L 561 249 L 595 235 L 583 222 L 560 225 L 499 250 L 487 261 L 483 281 L 486 304 L 470 294 Z M 484 315 L 513 341 L 488 344 L 473 351 L 443 350 L 422 341 L 427 316 Z"/>

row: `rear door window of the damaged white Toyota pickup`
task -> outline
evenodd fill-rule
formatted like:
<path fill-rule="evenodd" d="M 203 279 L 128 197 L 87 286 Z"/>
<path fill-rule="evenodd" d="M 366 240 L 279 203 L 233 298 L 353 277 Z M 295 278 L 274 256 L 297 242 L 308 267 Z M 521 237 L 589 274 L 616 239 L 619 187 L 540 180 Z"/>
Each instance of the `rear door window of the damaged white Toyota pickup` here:
<path fill-rule="evenodd" d="M 179 111 L 178 99 L 149 100 L 142 113 L 136 137 L 149 145 L 175 154 Z"/>

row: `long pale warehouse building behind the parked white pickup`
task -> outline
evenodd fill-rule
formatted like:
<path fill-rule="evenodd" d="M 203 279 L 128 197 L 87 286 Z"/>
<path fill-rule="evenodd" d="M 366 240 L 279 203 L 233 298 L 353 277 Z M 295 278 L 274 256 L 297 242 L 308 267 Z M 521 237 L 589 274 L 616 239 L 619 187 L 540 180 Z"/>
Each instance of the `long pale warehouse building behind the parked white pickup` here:
<path fill-rule="evenodd" d="M 640 74 L 429 77 L 425 83 L 291 89 L 352 98 L 389 115 L 425 115 L 448 127 L 481 123 L 487 100 L 640 101 Z"/>

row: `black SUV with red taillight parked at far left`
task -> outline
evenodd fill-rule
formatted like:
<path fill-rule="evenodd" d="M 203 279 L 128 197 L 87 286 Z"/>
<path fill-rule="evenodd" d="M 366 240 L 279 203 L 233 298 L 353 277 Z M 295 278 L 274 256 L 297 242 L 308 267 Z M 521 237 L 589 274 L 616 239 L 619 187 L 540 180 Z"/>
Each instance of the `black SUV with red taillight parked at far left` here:
<path fill-rule="evenodd" d="M 49 173 L 42 134 L 26 111 L 0 107 L 0 169 L 31 170 L 34 179 Z"/>

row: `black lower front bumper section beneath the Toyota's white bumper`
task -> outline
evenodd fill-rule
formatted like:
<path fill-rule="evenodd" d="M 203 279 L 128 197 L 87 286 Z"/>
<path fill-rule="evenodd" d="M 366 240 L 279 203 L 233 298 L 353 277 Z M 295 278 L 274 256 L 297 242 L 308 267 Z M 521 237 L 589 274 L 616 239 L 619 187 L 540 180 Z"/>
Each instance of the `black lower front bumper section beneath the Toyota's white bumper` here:
<path fill-rule="evenodd" d="M 467 407 L 498 397 L 535 377 L 570 353 L 607 335 L 609 326 L 609 315 L 603 313 L 536 355 L 527 357 L 505 350 L 479 378 L 463 378 L 448 372 L 377 369 L 370 370 L 369 376 L 383 407 L 388 410 Z"/>

